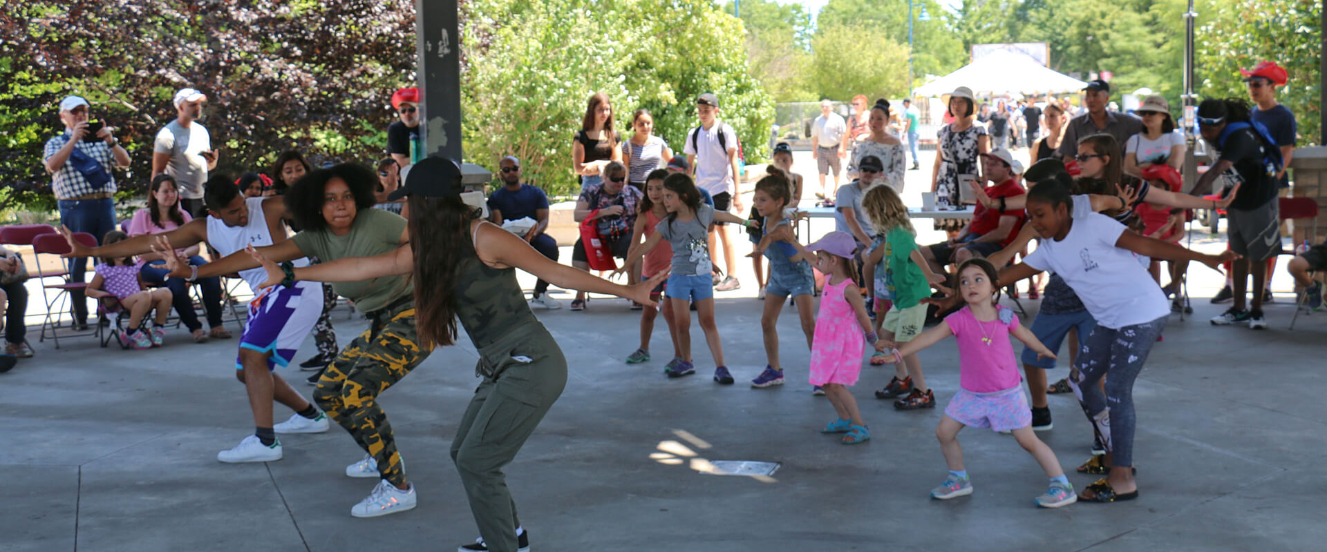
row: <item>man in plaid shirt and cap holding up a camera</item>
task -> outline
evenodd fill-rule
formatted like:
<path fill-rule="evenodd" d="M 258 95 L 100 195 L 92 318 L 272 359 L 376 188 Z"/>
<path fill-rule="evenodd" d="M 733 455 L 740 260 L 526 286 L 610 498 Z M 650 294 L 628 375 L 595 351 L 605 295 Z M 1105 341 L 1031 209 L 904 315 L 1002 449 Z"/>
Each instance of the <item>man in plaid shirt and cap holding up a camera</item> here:
<path fill-rule="evenodd" d="M 115 228 L 115 175 L 111 168 L 129 167 L 129 152 L 119 146 L 115 127 L 88 118 L 88 101 L 77 95 L 60 101 L 60 122 L 65 131 L 46 140 L 44 151 L 50 189 L 60 208 L 60 224 L 73 232 L 101 238 Z M 69 259 L 69 277 L 82 282 L 88 258 Z M 82 291 L 72 291 L 74 330 L 88 330 L 88 302 Z"/>

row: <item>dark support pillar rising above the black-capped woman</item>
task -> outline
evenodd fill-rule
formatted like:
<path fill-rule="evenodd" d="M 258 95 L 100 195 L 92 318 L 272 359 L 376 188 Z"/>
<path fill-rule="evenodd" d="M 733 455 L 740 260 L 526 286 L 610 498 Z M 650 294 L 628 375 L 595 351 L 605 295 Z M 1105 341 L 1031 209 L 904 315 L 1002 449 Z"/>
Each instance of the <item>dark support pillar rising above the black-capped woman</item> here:
<path fill-rule="evenodd" d="M 456 0 L 415 0 L 419 140 L 426 156 L 460 161 L 460 40 Z"/>

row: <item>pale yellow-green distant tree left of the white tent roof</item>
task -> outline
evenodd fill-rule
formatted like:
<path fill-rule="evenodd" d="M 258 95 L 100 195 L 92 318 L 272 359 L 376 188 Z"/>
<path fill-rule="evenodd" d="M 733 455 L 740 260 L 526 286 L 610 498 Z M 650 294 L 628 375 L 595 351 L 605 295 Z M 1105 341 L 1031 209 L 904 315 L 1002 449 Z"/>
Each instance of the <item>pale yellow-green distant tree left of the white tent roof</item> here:
<path fill-rule="evenodd" d="M 908 46 L 874 26 L 820 28 L 811 49 L 813 60 L 807 77 L 821 98 L 845 101 L 865 94 L 874 99 L 908 94 Z"/>

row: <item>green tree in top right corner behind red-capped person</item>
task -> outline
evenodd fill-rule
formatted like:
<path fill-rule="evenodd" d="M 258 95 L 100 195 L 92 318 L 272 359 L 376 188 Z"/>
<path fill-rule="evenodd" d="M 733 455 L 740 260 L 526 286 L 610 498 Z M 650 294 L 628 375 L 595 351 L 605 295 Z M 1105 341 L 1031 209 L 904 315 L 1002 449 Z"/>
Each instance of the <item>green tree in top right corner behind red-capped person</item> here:
<path fill-rule="evenodd" d="M 1314 0 L 1238 0 L 1221 7 L 1200 33 L 1198 94 L 1247 99 L 1239 69 L 1275 61 L 1290 74 L 1290 82 L 1278 89 L 1278 101 L 1295 114 L 1299 144 L 1323 143 L 1320 17 L 1322 4 Z"/>

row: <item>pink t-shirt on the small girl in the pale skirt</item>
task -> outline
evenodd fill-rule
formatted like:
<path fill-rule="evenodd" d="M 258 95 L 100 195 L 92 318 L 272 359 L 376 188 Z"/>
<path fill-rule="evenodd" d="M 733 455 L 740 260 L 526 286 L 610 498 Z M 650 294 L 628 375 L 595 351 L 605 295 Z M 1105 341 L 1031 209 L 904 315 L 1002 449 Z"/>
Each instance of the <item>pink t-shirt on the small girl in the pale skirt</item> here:
<path fill-rule="evenodd" d="M 1018 315 L 995 307 L 998 318 L 979 322 L 969 307 L 945 316 L 958 339 L 958 385 L 973 393 L 994 393 L 1022 381 L 1009 334 L 1018 327 Z"/>

